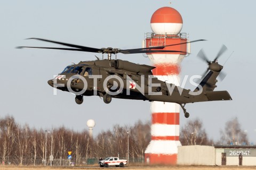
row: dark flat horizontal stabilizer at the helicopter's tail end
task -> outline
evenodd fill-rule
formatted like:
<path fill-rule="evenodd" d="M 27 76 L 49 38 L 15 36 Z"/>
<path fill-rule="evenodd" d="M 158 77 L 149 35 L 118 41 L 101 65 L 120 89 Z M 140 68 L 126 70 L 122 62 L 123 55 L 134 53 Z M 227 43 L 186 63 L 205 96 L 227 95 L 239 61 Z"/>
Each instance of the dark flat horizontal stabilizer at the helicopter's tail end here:
<path fill-rule="evenodd" d="M 206 96 L 208 98 L 208 101 L 232 100 L 228 91 L 207 91 Z"/>

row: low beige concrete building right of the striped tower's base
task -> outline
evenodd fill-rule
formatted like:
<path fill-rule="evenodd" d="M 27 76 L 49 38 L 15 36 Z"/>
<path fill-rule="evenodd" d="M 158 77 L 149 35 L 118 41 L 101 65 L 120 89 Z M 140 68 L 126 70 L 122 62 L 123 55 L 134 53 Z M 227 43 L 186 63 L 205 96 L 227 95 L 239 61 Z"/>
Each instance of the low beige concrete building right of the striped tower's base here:
<path fill-rule="evenodd" d="M 177 164 L 256 166 L 256 146 L 180 146 Z"/>

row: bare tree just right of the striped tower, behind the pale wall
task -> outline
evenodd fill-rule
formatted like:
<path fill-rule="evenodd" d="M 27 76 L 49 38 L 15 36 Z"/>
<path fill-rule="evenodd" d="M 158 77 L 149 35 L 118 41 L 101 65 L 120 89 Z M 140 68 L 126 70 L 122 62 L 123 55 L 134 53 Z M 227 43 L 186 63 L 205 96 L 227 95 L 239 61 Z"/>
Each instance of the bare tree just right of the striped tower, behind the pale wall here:
<path fill-rule="evenodd" d="M 209 140 L 203 122 L 196 118 L 189 120 L 181 128 L 180 142 L 182 145 L 213 145 L 213 141 Z"/>

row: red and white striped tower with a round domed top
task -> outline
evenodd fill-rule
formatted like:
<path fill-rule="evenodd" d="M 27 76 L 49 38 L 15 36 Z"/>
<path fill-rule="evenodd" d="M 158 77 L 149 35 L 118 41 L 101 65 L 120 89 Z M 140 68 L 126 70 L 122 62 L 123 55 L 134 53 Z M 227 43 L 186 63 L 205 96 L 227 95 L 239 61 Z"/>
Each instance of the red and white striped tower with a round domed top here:
<path fill-rule="evenodd" d="M 171 7 L 162 7 L 151 17 L 151 29 L 147 33 L 146 47 L 186 43 L 180 13 Z M 180 63 L 187 54 L 187 44 L 165 47 L 180 53 L 147 54 L 156 67 L 153 74 L 157 79 L 179 86 Z M 184 52 L 184 53 L 182 53 Z M 145 151 L 145 161 L 150 164 L 172 164 L 177 162 L 180 124 L 180 106 L 175 103 L 153 101 L 151 103 L 151 141 Z"/>

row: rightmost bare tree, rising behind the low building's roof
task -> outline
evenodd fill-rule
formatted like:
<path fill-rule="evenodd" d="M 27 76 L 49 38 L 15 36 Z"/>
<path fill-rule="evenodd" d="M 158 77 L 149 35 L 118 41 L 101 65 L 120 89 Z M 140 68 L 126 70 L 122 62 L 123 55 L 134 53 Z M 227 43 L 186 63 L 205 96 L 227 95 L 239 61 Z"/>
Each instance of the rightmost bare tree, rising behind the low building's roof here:
<path fill-rule="evenodd" d="M 220 141 L 222 145 L 247 145 L 247 133 L 241 128 L 238 118 L 235 117 L 225 124 L 225 130 L 220 130 Z"/>

